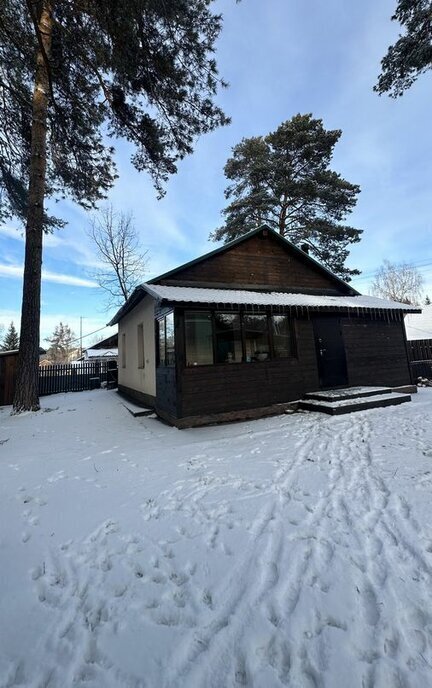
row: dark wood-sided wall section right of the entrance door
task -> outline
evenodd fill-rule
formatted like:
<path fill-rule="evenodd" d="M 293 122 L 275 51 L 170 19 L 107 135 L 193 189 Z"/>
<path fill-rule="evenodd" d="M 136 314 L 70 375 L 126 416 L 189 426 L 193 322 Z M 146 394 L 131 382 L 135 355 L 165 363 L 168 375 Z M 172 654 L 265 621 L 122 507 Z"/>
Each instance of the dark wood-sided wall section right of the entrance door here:
<path fill-rule="evenodd" d="M 350 385 L 411 384 L 402 321 L 343 318 Z"/>

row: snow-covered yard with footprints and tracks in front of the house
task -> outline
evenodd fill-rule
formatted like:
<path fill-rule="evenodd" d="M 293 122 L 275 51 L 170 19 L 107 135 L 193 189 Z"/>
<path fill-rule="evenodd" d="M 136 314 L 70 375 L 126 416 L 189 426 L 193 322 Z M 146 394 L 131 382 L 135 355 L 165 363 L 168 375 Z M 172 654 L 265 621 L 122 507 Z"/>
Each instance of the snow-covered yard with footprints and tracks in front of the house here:
<path fill-rule="evenodd" d="M 432 390 L 176 430 L 0 410 L 0 686 L 432 686 Z"/>

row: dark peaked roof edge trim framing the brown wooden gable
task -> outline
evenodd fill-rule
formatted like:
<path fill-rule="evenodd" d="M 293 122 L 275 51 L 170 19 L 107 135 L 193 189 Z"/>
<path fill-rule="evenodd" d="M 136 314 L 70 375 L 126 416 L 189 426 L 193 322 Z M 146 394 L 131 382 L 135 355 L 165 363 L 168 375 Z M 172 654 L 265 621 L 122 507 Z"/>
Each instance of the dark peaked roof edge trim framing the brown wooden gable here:
<path fill-rule="evenodd" d="M 354 289 L 350 284 L 347 282 L 344 282 L 340 277 L 335 275 L 331 270 L 328 268 L 324 267 L 324 265 L 321 265 L 321 263 L 318 263 L 317 260 L 312 258 L 308 253 L 305 251 L 302 251 L 301 248 L 298 248 L 295 244 L 293 244 L 291 241 L 286 239 L 285 237 L 281 236 L 278 232 L 276 232 L 274 229 L 269 227 L 268 225 L 260 225 L 256 229 L 252 229 L 250 232 L 247 232 L 246 234 L 242 234 L 242 236 L 237 237 L 237 239 L 233 239 L 232 241 L 229 241 L 226 244 L 223 244 L 222 246 L 219 246 L 219 248 L 214 249 L 213 251 L 209 251 L 209 253 L 204 253 L 204 255 L 199 256 L 198 258 L 194 258 L 193 260 L 190 260 L 188 263 L 183 263 L 183 265 L 179 265 L 178 267 L 174 268 L 173 270 L 169 270 L 168 272 L 164 272 L 162 275 L 158 275 L 157 277 L 153 277 L 153 279 L 148 280 L 146 284 L 157 284 L 161 280 L 165 280 L 171 277 L 174 277 L 176 274 L 179 272 L 182 272 L 183 270 L 186 270 L 187 268 L 190 268 L 194 265 L 198 265 L 199 263 L 203 263 L 209 258 L 213 258 L 213 256 L 221 255 L 222 253 L 226 253 L 230 249 L 234 248 L 234 246 L 238 246 L 238 244 L 241 244 L 245 241 L 248 241 L 251 237 L 257 236 L 261 232 L 267 232 L 272 238 L 274 238 L 276 241 L 278 241 L 284 248 L 290 249 L 294 255 L 297 256 L 297 258 L 300 258 L 300 260 L 309 263 L 315 270 L 318 270 L 321 274 L 324 274 L 327 278 L 330 278 L 334 282 L 337 283 L 339 287 L 342 287 L 347 293 L 351 294 L 352 296 L 358 295 L 359 292 Z"/>

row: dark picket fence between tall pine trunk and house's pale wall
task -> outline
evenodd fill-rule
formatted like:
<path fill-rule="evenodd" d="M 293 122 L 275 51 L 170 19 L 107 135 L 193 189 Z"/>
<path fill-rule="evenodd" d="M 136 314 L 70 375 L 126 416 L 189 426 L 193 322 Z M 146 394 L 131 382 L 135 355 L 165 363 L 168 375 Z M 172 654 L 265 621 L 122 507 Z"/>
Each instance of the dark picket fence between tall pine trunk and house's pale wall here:
<path fill-rule="evenodd" d="M 82 392 L 96 389 L 103 384 L 113 388 L 117 386 L 117 363 L 115 361 L 97 361 L 88 363 L 56 364 L 39 368 L 39 394 L 57 394 L 59 392 Z"/>

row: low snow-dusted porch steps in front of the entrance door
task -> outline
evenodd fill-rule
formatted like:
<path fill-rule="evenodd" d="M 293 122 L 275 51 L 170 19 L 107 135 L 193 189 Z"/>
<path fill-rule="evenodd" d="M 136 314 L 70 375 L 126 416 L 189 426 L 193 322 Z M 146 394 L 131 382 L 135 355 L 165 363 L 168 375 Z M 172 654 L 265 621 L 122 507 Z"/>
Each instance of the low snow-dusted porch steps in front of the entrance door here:
<path fill-rule="evenodd" d="M 341 415 L 384 406 L 397 406 L 408 401 L 411 401 L 410 394 L 393 392 L 390 387 L 347 387 L 310 392 L 299 402 L 299 408 L 304 411 Z"/>

